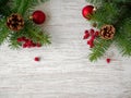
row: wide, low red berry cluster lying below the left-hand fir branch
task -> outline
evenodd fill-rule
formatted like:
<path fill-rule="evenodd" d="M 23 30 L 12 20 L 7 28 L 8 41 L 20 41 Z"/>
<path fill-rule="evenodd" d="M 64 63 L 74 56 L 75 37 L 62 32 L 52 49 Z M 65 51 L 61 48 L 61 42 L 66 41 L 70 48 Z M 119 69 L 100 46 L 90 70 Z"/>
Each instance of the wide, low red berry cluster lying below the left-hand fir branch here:
<path fill-rule="evenodd" d="M 17 38 L 17 42 L 21 42 L 23 48 L 41 47 L 40 44 L 38 44 L 38 42 L 35 44 L 35 42 L 33 42 L 33 40 L 25 38 L 25 37 Z"/>

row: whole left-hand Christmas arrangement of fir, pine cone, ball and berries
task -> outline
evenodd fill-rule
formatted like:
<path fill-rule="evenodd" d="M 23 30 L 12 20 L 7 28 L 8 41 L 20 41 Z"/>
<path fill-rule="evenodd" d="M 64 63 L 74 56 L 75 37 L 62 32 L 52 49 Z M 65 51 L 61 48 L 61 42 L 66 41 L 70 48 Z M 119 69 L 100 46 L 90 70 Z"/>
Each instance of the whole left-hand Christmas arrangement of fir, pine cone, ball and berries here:
<path fill-rule="evenodd" d="M 1 0 L 0 1 L 0 45 L 9 41 L 16 49 L 41 47 L 50 44 L 50 37 L 40 26 L 46 20 L 44 12 L 35 7 L 47 0 Z M 31 14 L 33 13 L 33 14 Z M 32 16 L 33 21 L 28 17 Z"/>

